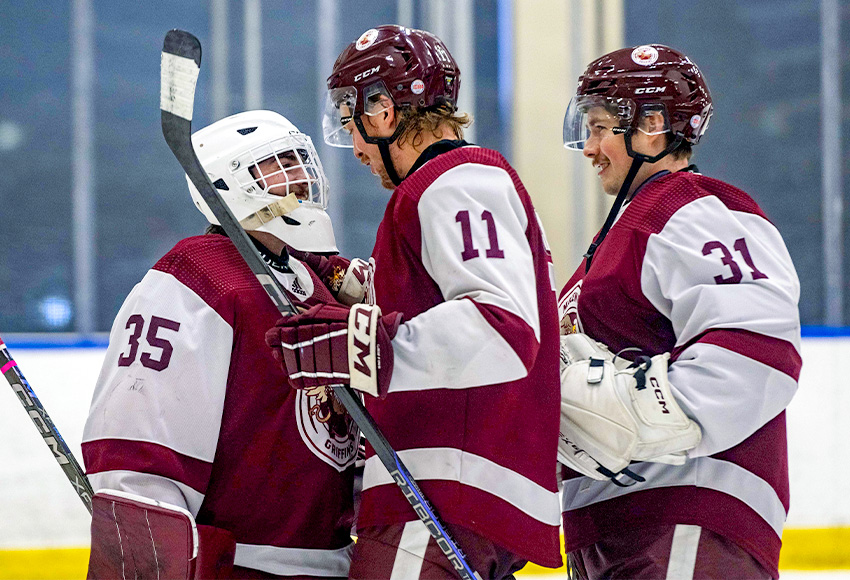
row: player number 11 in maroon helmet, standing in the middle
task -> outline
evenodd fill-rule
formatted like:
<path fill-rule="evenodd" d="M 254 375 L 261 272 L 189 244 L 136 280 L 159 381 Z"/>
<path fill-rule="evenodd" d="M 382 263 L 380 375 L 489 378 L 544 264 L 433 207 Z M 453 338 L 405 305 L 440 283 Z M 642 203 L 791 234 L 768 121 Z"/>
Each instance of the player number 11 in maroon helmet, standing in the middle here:
<path fill-rule="evenodd" d="M 514 170 L 462 140 L 460 71 L 434 35 L 370 29 L 328 79 L 325 140 L 392 196 L 373 304 L 267 338 L 295 388 L 350 382 L 483 578 L 558 567 L 558 330 L 543 231 Z M 367 448 L 350 578 L 456 578 Z"/>

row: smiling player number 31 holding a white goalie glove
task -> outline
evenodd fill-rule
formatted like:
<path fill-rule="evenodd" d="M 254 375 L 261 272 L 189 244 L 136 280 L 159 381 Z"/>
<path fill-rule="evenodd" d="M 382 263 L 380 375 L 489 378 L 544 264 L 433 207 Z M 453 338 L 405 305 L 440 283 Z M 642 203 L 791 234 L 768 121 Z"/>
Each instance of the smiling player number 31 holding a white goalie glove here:
<path fill-rule="evenodd" d="M 700 70 L 662 45 L 590 63 L 567 109 L 565 146 L 616 196 L 559 298 L 583 578 L 778 577 L 799 282 L 758 204 L 689 165 L 711 114 Z"/>

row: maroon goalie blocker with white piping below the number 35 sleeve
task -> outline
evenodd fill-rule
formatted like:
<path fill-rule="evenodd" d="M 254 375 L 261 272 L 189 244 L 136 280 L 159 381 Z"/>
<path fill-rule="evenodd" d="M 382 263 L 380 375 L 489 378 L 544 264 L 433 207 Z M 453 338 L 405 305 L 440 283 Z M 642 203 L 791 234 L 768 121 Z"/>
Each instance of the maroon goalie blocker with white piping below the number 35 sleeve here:
<path fill-rule="evenodd" d="M 88 580 L 230 578 L 233 534 L 196 525 L 183 508 L 102 489 L 92 501 Z"/>

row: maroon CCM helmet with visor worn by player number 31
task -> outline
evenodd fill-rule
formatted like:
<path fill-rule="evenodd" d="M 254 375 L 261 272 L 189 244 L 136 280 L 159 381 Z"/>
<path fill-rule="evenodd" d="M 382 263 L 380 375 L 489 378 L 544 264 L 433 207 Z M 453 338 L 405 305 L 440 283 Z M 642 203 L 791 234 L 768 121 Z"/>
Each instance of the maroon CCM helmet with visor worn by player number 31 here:
<path fill-rule="evenodd" d="M 691 144 L 705 133 L 712 113 L 711 94 L 697 65 L 662 44 L 622 48 L 588 65 L 564 118 L 565 147 L 583 148 L 585 114 L 595 106 L 606 107 L 619 117 L 621 128 L 632 131 L 640 130 L 642 116 L 660 111 L 663 131 Z"/>

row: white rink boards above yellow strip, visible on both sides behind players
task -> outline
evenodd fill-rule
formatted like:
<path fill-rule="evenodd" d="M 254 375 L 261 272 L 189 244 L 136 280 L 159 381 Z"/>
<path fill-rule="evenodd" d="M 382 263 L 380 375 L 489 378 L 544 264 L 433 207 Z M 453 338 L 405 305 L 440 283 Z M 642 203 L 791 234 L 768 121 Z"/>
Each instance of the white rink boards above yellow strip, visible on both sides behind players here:
<path fill-rule="evenodd" d="M 77 460 L 105 349 L 11 354 Z M 803 341 L 800 390 L 788 410 L 788 527 L 850 526 L 850 337 Z M 6 381 L 4 380 L 5 384 Z M 89 516 L 12 389 L 0 385 L 0 549 L 88 545 Z"/>

